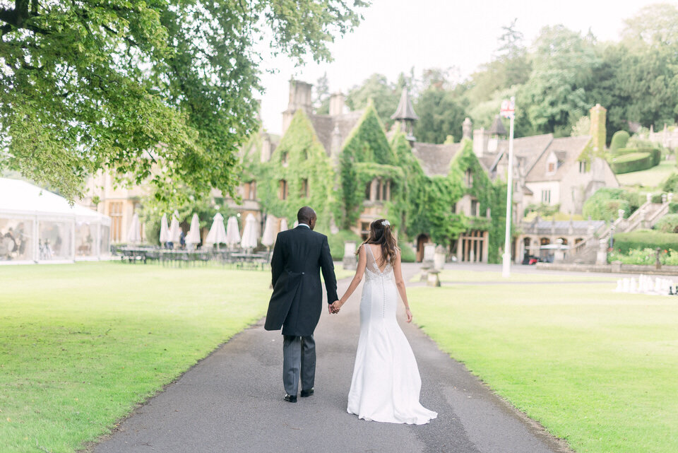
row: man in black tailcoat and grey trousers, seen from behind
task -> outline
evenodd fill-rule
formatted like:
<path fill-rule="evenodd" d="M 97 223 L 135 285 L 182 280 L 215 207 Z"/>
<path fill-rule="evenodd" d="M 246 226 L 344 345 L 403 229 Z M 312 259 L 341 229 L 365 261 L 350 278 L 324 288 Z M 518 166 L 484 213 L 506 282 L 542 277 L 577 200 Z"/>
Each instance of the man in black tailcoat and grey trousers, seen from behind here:
<path fill-rule="evenodd" d="M 337 278 L 327 236 L 316 233 L 316 213 L 304 206 L 297 213 L 299 226 L 281 231 L 273 247 L 270 271 L 273 294 L 268 302 L 266 330 L 283 328 L 283 384 L 285 401 L 297 402 L 299 377 L 302 398 L 311 396 L 316 376 L 316 329 L 323 310 L 320 270 L 328 303 L 338 300 Z M 328 305 L 328 311 L 333 312 Z"/>

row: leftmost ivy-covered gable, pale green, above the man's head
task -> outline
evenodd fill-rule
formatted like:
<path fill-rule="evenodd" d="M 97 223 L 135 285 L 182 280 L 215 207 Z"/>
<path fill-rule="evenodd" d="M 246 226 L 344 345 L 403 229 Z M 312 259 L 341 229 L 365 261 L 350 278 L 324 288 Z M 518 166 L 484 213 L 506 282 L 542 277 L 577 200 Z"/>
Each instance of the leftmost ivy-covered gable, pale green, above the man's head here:
<path fill-rule="evenodd" d="M 292 222 L 301 206 L 313 207 L 318 214 L 317 229 L 329 231 L 335 203 L 334 172 L 325 148 L 303 110 L 297 110 L 290 127 L 270 160 L 260 163 L 256 173 L 258 197 L 266 213 Z M 287 182 L 287 197 L 280 199 L 280 181 Z M 307 182 L 308 195 L 304 192 Z M 291 227 L 291 225 L 290 225 Z"/>

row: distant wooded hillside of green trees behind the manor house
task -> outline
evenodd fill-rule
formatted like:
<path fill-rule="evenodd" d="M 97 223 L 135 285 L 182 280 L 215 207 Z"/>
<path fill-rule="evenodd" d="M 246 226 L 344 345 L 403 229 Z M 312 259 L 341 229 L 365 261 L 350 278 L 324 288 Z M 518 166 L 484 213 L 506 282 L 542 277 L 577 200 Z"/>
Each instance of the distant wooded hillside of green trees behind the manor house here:
<path fill-rule="evenodd" d="M 547 26 L 526 45 L 516 20 L 503 27 L 492 59 L 463 81 L 451 69 L 427 69 L 397 81 L 374 74 L 347 94 L 347 105 L 364 108 L 370 99 L 391 126 L 403 86 L 410 88 L 420 120 L 418 141 L 458 141 L 461 124 L 488 128 L 501 100 L 516 96 L 516 136 L 581 134 L 593 105 L 607 108 L 607 141 L 615 131 L 661 128 L 678 118 L 678 8 L 653 4 L 624 23 L 621 39 L 599 42 L 593 33 Z M 326 112 L 327 79 L 316 93 Z"/>

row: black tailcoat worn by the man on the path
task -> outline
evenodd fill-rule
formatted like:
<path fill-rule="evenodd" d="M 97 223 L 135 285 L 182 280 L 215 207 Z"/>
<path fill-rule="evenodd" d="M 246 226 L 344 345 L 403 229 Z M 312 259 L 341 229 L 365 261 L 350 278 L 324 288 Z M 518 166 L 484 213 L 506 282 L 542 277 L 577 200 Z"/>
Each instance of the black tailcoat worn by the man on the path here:
<path fill-rule="evenodd" d="M 304 225 L 278 233 L 270 261 L 273 294 L 268 302 L 266 330 L 283 335 L 313 334 L 323 310 L 323 271 L 328 303 L 338 299 L 337 278 L 327 236 Z"/>

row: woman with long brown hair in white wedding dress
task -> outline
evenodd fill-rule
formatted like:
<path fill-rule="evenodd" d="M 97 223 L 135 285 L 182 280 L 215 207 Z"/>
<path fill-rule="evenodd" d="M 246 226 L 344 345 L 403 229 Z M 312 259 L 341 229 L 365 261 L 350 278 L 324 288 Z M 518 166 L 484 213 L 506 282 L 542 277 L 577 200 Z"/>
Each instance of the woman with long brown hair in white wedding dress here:
<path fill-rule="evenodd" d="M 359 247 L 358 268 L 346 293 L 332 305 L 338 312 L 365 275 L 360 300 L 360 338 L 355 357 L 349 413 L 364 420 L 422 425 L 438 416 L 419 402 L 422 380 L 410 343 L 396 322 L 398 293 L 407 321 L 412 312 L 400 269 L 400 249 L 391 223 L 374 220 Z"/>

